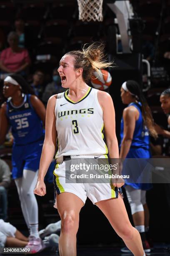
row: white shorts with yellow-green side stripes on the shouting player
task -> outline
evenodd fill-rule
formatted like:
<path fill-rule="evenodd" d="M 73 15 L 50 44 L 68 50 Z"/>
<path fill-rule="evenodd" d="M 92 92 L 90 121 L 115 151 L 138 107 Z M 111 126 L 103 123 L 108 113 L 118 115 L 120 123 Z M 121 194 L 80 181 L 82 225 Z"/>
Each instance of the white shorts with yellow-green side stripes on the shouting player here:
<path fill-rule="evenodd" d="M 71 158 L 84 158 L 86 161 L 87 158 L 94 158 L 94 156 L 71 156 Z M 96 158 L 96 157 L 95 157 Z M 106 155 L 99 156 L 97 158 L 106 158 Z M 76 159 L 77 160 L 77 159 Z M 88 161 L 88 160 L 87 160 Z M 108 161 L 108 160 L 107 160 Z M 74 183 L 70 182 L 70 179 L 67 179 L 65 172 L 66 161 L 60 163 L 57 162 L 55 166 L 54 174 L 54 187 L 55 187 L 55 200 L 54 207 L 57 208 L 56 194 L 60 195 L 63 192 L 70 192 L 79 197 L 82 202 L 85 204 L 87 197 L 92 201 L 93 204 L 101 200 L 107 200 L 110 198 L 117 198 L 118 192 L 122 195 L 122 189 L 114 187 L 112 183 Z M 106 162 L 106 161 L 105 161 Z M 123 195 L 122 195 L 123 197 Z"/>

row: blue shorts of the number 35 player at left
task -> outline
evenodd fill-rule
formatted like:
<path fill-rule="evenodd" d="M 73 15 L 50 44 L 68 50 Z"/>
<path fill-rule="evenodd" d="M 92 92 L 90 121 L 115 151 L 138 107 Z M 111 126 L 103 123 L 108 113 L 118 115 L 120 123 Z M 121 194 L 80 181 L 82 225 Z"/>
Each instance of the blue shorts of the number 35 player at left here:
<path fill-rule="evenodd" d="M 36 172 L 39 169 L 43 140 L 27 145 L 14 145 L 12 156 L 13 179 L 23 177 L 23 169 Z"/>

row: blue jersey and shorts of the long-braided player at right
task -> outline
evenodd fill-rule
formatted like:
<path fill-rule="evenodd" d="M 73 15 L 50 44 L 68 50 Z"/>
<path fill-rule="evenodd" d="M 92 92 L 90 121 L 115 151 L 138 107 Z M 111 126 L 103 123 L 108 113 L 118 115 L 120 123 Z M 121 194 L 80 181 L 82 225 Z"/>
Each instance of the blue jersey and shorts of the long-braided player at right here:
<path fill-rule="evenodd" d="M 125 179 L 125 185 L 130 185 L 135 189 L 143 189 L 148 190 L 152 188 L 152 184 L 149 183 L 150 181 L 150 172 L 148 172 L 147 178 L 145 177 L 145 182 L 148 179 L 148 183 L 142 183 L 143 172 L 145 170 L 145 166 L 147 164 L 146 159 L 150 158 L 150 138 L 149 138 L 149 131 L 148 128 L 144 125 L 143 117 L 142 117 L 142 110 L 141 110 L 141 103 L 130 103 L 129 106 L 134 106 L 138 109 L 140 115 L 138 120 L 135 123 L 135 130 L 133 133 L 133 140 L 130 146 L 130 150 L 126 156 L 126 158 L 135 158 L 136 160 L 132 162 L 124 161 L 122 174 L 130 174 L 131 172 L 135 172 L 130 174 L 131 177 L 134 179 L 138 177 L 138 183 L 131 183 L 128 179 Z M 121 143 L 123 139 L 123 118 L 121 120 L 121 129 L 120 129 L 120 137 Z M 121 145 L 121 144 L 120 144 Z M 139 159 L 139 160 L 138 160 Z M 130 164 L 131 163 L 131 164 Z M 141 179 L 141 181 L 140 181 Z"/>

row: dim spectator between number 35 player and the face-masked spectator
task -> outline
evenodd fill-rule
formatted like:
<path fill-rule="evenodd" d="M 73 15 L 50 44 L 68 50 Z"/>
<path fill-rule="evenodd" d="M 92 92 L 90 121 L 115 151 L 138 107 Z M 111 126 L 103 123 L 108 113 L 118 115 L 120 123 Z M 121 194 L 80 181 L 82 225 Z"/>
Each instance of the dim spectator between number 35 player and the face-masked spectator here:
<path fill-rule="evenodd" d="M 41 70 L 36 70 L 35 73 L 33 74 L 33 81 L 30 85 L 34 90 L 35 95 L 40 99 L 42 97 L 42 93 L 44 90 L 43 82 L 44 82 L 44 73 Z"/>

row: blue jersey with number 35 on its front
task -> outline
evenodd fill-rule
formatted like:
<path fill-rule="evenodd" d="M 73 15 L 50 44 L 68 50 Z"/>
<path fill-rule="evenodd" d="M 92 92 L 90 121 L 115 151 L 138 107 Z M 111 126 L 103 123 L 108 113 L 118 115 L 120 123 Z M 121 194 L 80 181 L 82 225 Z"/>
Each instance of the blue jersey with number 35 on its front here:
<path fill-rule="evenodd" d="M 18 107 L 13 105 L 12 100 L 7 100 L 7 118 L 17 145 L 44 139 L 42 121 L 31 105 L 30 96 L 24 95 L 24 101 Z"/>

